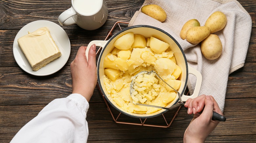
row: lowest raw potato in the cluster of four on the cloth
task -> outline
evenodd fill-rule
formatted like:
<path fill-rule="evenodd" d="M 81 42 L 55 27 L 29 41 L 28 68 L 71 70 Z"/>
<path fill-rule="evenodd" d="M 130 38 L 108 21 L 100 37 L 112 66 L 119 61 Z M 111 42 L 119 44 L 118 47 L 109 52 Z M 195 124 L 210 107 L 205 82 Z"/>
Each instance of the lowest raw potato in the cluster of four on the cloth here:
<path fill-rule="evenodd" d="M 201 43 L 201 52 L 209 60 L 218 58 L 222 52 L 222 43 L 218 35 L 210 34 Z"/>

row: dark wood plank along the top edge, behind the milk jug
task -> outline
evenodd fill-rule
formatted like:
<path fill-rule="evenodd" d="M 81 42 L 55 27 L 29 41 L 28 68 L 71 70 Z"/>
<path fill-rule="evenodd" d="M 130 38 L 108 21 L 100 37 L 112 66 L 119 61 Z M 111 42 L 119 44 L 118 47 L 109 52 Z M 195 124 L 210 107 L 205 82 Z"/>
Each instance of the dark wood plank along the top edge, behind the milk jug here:
<path fill-rule="evenodd" d="M 106 1 L 109 9 L 109 21 L 130 21 L 133 14 L 139 10 L 144 1 L 129 0 Z M 118 7 L 117 7 L 118 5 Z M 71 7 L 70 0 L 63 1 L 2 1 L 0 9 L 5 13 L 3 21 L 0 21 L 0 29 L 21 29 L 24 25 L 36 20 L 48 20 L 58 23 L 58 16 L 66 9 Z M 111 24 L 112 25 L 112 24 Z M 102 28 L 110 29 L 112 26 L 103 26 Z M 77 29 L 77 25 L 67 26 L 64 29 Z M 82 30 L 79 28 L 79 30 Z M 102 30 L 102 29 L 101 29 Z"/>

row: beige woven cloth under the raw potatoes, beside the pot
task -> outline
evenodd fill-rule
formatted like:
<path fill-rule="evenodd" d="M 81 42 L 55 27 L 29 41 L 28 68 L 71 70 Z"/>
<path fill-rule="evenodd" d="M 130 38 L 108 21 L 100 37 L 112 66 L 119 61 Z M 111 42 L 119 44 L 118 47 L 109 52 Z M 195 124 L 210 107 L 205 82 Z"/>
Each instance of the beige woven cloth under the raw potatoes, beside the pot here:
<path fill-rule="evenodd" d="M 141 10 L 136 11 L 128 26 L 151 25 L 172 35 L 185 52 L 188 64 L 203 76 L 199 95 L 212 95 L 221 110 L 224 110 L 228 75 L 244 66 L 250 40 L 252 20 L 248 12 L 236 0 L 145 0 L 144 5 L 157 4 L 167 14 L 164 22 L 159 22 Z M 180 38 L 185 22 L 197 19 L 201 26 L 215 11 L 222 11 L 227 17 L 223 30 L 215 32 L 223 44 L 221 56 L 207 60 L 201 53 L 200 44 L 191 44 Z M 188 89 L 193 93 L 196 78 L 189 74 Z"/>

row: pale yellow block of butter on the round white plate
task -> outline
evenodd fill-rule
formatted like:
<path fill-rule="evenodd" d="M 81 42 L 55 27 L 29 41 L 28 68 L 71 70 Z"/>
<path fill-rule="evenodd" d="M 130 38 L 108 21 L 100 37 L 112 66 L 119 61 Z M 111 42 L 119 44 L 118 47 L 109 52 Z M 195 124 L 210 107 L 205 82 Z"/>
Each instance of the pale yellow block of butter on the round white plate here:
<path fill-rule="evenodd" d="M 47 27 L 39 28 L 19 38 L 18 44 L 33 71 L 38 71 L 61 56 L 61 52 Z"/>

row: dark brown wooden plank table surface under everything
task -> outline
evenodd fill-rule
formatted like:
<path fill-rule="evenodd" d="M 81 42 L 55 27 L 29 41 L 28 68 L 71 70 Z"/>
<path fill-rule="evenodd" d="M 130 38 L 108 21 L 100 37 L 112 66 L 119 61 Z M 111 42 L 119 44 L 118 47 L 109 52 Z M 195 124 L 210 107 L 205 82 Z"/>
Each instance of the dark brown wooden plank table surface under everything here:
<path fill-rule="evenodd" d="M 227 120 L 216 127 L 207 142 L 256 142 L 256 2 L 238 1 L 252 18 L 249 48 L 245 66 L 230 74 L 228 78 L 224 109 Z M 62 27 L 71 42 L 71 54 L 65 66 L 49 76 L 33 76 L 23 71 L 14 59 L 12 45 L 16 34 L 23 26 L 36 20 L 59 24 L 59 14 L 70 8 L 71 1 L 0 0 L 1 143 L 10 142 L 20 128 L 53 99 L 71 94 L 70 63 L 75 58 L 79 46 L 87 45 L 92 40 L 104 40 L 117 21 L 129 22 L 144 0 L 106 2 L 109 16 L 101 28 L 87 31 L 77 25 Z M 118 28 L 115 31 L 118 31 Z M 125 115 L 121 116 L 120 119 L 125 121 L 134 120 Z M 88 142 L 182 142 L 184 131 L 191 119 L 192 115 L 187 115 L 186 110 L 181 108 L 169 128 L 116 123 L 96 87 L 87 114 Z M 162 124 L 162 121 L 159 117 L 149 122 Z"/>

